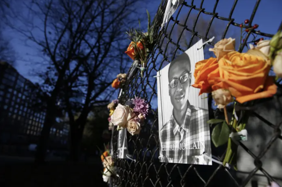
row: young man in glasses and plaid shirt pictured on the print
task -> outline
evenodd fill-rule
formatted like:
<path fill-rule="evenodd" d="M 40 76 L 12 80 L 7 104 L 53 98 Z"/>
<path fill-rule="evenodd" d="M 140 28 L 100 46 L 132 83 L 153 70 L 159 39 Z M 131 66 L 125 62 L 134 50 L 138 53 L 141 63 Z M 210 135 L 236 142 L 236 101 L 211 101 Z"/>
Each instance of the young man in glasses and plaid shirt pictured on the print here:
<path fill-rule="evenodd" d="M 209 113 L 189 103 L 191 74 L 186 53 L 169 66 L 169 96 L 173 110 L 160 130 L 160 158 L 169 163 L 211 165 L 208 158 L 211 156 Z"/>

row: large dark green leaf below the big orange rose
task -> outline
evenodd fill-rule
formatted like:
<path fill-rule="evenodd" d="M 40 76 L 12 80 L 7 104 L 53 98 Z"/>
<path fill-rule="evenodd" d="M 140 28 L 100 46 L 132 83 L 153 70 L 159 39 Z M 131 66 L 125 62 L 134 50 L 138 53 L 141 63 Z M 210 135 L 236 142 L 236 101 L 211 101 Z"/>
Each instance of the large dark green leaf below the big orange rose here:
<path fill-rule="evenodd" d="M 218 124 L 212 130 L 212 142 L 215 147 L 219 147 L 228 141 L 230 129 L 226 122 Z"/>

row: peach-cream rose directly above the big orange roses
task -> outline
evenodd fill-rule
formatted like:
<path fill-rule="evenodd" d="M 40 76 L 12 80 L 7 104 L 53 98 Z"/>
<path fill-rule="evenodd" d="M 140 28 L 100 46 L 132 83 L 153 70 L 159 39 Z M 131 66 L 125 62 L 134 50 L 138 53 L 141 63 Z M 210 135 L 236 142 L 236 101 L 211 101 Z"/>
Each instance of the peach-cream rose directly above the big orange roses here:
<path fill-rule="evenodd" d="M 228 38 L 222 39 L 214 45 L 214 48 L 209 48 L 209 51 L 214 52 L 217 60 L 221 59 L 224 55 L 231 51 L 235 51 L 235 39 Z"/>

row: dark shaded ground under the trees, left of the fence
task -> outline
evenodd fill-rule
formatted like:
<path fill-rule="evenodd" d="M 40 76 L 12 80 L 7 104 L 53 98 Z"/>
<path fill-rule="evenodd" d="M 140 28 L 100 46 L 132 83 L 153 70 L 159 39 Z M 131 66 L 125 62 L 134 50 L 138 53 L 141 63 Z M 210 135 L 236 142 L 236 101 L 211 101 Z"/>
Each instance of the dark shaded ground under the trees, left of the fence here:
<path fill-rule="evenodd" d="M 32 159 L 0 156 L 0 187 L 107 186 L 99 158 L 91 163 L 48 161 L 35 165 Z"/>

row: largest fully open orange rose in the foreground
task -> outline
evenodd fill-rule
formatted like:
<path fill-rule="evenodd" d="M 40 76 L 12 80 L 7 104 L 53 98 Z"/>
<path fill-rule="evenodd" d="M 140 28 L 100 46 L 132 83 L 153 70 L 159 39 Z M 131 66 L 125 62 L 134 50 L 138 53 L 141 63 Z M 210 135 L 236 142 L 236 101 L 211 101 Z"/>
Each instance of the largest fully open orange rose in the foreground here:
<path fill-rule="evenodd" d="M 263 57 L 232 51 L 218 66 L 208 75 L 212 90 L 227 89 L 240 103 L 272 97 L 277 91 L 274 79 L 268 77 L 270 63 Z"/>

